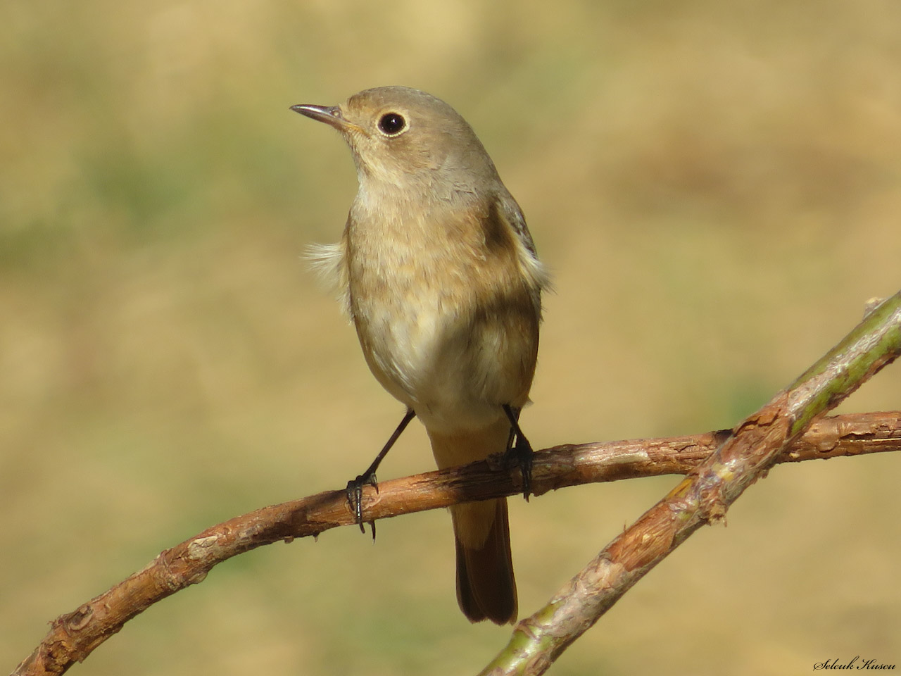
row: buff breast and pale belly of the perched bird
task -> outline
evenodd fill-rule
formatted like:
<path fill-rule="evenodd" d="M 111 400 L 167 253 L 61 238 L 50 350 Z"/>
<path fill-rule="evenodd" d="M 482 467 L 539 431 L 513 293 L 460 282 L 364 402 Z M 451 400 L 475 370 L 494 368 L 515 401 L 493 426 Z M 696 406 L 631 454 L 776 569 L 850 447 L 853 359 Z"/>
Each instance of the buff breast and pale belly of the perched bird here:
<path fill-rule="evenodd" d="M 350 310 L 383 387 L 432 429 L 477 427 L 526 400 L 538 310 L 514 255 L 488 250 L 478 215 L 438 212 L 351 212 Z"/>

